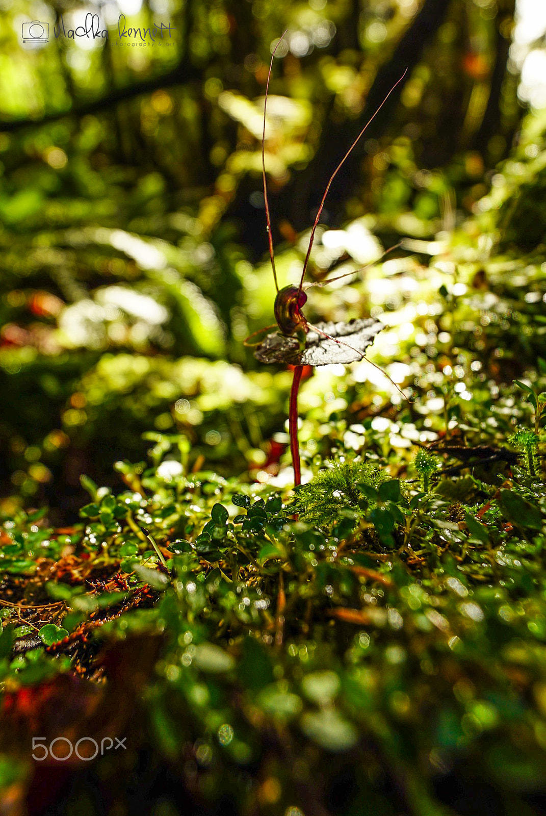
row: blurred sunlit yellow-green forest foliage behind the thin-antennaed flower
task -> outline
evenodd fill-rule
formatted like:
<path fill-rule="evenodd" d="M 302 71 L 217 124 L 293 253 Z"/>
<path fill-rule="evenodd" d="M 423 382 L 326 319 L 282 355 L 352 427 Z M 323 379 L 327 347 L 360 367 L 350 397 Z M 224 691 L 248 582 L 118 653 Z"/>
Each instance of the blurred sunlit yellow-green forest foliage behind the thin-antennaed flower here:
<path fill-rule="evenodd" d="M 286 379 L 265 373 L 242 385 L 253 366 L 242 340 L 272 322 L 273 281 L 269 264 L 259 263 L 271 45 L 287 28 L 265 143 L 273 232 L 286 242 L 277 260 L 284 283 L 297 277 L 305 237 L 295 230 L 311 224 L 340 144 L 350 144 L 405 67 L 402 104 L 372 124 L 332 188 L 326 220 L 364 218 L 363 227 L 389 246 L 400 235 L 424 240 L 450 231 L 459 214 L 477 200 L 483 205 L 491 186 L 484 172 L 506 153 L 520 115 L 517 78 L 504 70 L 513 3 L 397 0 L 362 10 L 344 2 L 150 3 L 127 15 L 127 26 L 135 32 L 169 22 L 172 30 L 156 31 L 153 42 L 144 33 L 148 44 L 138 48 L 126 47 L 113 7 L 100 12 L 108 37 L 94 39 L 82 11 L 66 9 L 61 20 L 47 5 L 40 14 L 50 41 L 25 46 L 25 9 L 35 19 L 30 5 L 7 3 L 0 23 L 7 44 L 0 102 L 4 483 L 51 500 L 51 474 L 62 477 L 68 493 L 55 503 L 74 512 L 79 473 L 104 479 L 111 459 L 142 455 L 140 433 L 151 424 L 185 428 L 220 469 L 229 468 L 235 443 L 242 468 L 282 429 L 286 387 Z M 66 36 L 78 25 L 79 35 Z M 538 145 L 542 129 L 534 127 Z M 526 184 L 539 173 L 533 155 L 516 161 L 529 168 Z M 508 170 L 507 184 L 491 191 L 516 185 L 504 204 L 511 229 L 527 221 L 520 172 Z M 453 240 L 474 245 L 477 235 L 463 229 Z M 351 246 L 357 260 L 370 259 L 367 243 L 361 230 L 347 251 L 339 241 L 317 246 L 313 274 L 350 261 Z M 408 272 L 422 260 L 408 260 Z M 428 299 L 424 279 L 420 286 L 419 297 Z M 313 304 L 319 317 L 345 317 L 340 298 L 360 313 L 372 303 L 392 308 L 399 297 L 326 292 Z M 188 355 L 195 360 L 177 362 Z M 211 367 L 219 359 L 243 369 Z M 220 434 L 225 446 L 206 443 L 207 433 Z"/>

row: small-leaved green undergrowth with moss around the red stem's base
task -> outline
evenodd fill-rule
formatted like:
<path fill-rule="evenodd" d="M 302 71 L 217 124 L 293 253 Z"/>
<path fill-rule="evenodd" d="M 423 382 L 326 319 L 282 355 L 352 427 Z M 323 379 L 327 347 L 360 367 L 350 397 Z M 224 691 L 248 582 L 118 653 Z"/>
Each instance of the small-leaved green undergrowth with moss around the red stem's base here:
<path fill-rule="evenodd" d="M 355 451 L 331 419 L 295 492 L 192 472 L 187 437 L 154 433 L 148 463 L 117 463 L 122 492 L 82 477 L 73 527 L 4 517 L 4 706 L 62 676 L 108 687 L 104 650 L 133 644 L 135 671 L 157 641 L 140 728 L 202 807 L 313 814 L 348 774 L 332 812 L 453 814 L 442 780 L 479 762 L 524 812 L 546 784 L 540 386 L 513 387 L 529 427 L 504 446 L 457 428 L 398 477 L 371 424 Z M 9 785 L 30 748 L 2 743 Z"/>

